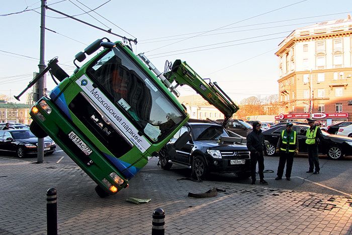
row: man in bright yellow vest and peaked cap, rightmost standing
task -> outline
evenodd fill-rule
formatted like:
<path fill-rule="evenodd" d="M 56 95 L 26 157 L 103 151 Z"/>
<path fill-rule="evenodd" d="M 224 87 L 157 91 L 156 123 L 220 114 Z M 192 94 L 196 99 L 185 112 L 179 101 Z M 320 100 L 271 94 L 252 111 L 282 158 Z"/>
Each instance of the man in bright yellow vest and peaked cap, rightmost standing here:
<path fill-rule="evenodd" d="M 314 167 L 314 175 L 319 174 L 320 167 L 319 167 L 319 159 L 318 159 L 318 144 L 322 137 L 322 133 L 320 128 L 314 124 L 314 120 L 308 118 L 307 119 L 310 128 L 307 130 L 306 133 L 306 144 L 308 148 L 308 161 L 309 161 L 309 170 L 307 173 L 313 173 Z"/>

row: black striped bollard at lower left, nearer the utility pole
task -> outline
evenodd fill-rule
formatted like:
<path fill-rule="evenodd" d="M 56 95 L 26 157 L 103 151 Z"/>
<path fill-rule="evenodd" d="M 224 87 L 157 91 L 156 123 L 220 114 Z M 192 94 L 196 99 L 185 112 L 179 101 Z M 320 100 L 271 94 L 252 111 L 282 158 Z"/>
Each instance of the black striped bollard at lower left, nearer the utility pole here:
<path fill-rule="evenodd" d="M 48 235 L 57 235 L 56 189 L 46 191 L 46 229 Z"/>

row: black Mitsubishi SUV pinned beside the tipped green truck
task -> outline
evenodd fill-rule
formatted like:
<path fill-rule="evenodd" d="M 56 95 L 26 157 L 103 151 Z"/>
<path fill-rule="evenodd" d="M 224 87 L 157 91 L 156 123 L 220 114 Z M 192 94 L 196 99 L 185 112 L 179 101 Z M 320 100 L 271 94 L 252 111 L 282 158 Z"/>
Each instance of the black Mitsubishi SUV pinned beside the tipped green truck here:
<path fill-rule="evenodd" d="M 245 142 L 246 138 L 220 125 L 188 122 L 159 151 L 160 165 L 165 170 L 172 164 L 186 166 L 197 179 L 204 179 L 210 172 L 248 178 L 250 159 Z"/>

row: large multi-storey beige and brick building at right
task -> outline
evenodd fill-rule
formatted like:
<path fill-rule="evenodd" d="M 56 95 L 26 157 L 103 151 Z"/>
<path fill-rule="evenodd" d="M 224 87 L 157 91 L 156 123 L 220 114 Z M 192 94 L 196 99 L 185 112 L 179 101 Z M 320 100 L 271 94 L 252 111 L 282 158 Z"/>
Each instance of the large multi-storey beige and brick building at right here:
<path fill-rule="evenodd" d="M 279 44 L 281 119 L 352 120 L 352 20 L 294 30 Z M 301 120 L 302 121 L 302 120 Z"/>

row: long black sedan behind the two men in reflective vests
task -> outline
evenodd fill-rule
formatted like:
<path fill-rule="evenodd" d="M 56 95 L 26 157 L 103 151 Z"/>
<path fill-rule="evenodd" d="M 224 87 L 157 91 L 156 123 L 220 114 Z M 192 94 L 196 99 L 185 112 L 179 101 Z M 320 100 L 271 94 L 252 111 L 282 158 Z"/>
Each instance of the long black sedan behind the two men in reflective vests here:
<path fill-rule="evenodd" d="M 282 130 L 285 128 L 286 126 L 276 126 L 262 132 L 264 139 L 269 141 L 269 144 L 267 145 L 267 155 L 275 155 L 275 149 L 279 141 L 279 137 Z M 300 153 L 307 153 L 306 132 L 308 128 L 309 126 L 307 125 L 293 125 L 293 130 L 297 132 Z M 352 154 L 352 138 L 331 135 L 325 131 L 321 132 L 323 135 L 323 140 L 318 145 L 319 154 L 327 154 L 327 156 L 333 160 L 342 159 L 344 154 Z"/>

